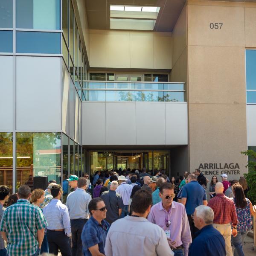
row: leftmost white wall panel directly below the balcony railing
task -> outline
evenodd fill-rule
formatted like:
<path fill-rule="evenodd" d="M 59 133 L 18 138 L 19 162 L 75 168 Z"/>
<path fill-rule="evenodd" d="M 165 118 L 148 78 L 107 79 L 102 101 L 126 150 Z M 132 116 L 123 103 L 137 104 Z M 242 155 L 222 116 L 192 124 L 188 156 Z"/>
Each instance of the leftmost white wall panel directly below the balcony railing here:
<path fill-rule="evenodd" d="M 106 145 L 106 104 L 82 102 L 83 145 Z"/>

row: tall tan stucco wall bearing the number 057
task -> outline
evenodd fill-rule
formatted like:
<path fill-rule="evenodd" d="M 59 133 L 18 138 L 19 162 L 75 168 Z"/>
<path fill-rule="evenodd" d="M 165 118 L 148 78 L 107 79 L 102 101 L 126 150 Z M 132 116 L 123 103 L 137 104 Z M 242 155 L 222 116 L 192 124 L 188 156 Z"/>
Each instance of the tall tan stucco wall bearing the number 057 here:
<path fill-rule="evenodd" d="M 237 179 L 247 172 L 240 151 L 247 149 L 245 38 L 252 44 L 255 36 L 252 24 L 245 33 L 245 23 L 253 14 L 241 3 L 189 1 L 187 8 L 190 171 L 217 163 L 201 168 L 209 180 L 221 180 L 221 172 Z M 240 168 L 224 169 L 225 163 Z"/>

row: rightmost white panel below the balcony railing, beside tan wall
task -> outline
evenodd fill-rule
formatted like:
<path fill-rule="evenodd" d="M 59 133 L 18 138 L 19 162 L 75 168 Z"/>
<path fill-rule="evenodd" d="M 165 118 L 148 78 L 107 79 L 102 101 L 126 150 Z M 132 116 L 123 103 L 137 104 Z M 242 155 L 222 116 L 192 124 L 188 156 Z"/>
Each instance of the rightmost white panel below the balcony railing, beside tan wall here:
<path fill-rule="evenodd" d="M 187 103 L 166 103 L 166 144 L 188 144 Z"/>

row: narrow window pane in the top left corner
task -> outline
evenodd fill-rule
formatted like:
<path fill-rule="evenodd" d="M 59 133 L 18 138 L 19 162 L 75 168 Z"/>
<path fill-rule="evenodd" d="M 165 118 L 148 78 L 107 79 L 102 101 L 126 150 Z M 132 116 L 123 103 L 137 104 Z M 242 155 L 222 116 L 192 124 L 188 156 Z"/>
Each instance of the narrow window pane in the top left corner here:
<path fill-rule="evenodd" d="M 12 0 L 0 0 L 0 28 L 13 28 L 12 2 Z"/>

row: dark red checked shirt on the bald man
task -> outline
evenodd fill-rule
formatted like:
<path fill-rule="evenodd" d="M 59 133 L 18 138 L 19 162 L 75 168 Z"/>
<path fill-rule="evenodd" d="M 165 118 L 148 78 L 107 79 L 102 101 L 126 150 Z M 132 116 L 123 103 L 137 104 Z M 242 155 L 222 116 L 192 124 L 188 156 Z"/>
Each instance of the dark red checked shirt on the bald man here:
<path fill-rule="evenodd" d="M 208 206 L 214 212 L 213 223 L 227 224 L 232 222 L 233 225 L 238 223 L 235 204 L 224 194 L 216 194 L 214 198 L 210 199 Z"/>

